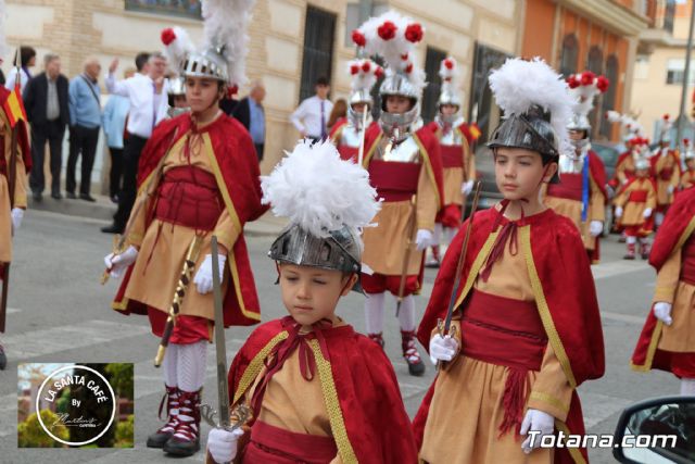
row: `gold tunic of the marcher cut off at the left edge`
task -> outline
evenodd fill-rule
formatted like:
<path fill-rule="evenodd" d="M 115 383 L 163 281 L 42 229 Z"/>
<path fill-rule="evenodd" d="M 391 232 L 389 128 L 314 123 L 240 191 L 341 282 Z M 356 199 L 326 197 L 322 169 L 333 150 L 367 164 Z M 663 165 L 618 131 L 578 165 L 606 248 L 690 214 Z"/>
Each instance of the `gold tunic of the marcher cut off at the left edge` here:
<path fill-rule="evenodd" d="M 10 171 L 10 153 L 12 147 L 12 129 L 4 111 L 0 109 L 0 135 L 4 139 L 3 156 Z M 26 210 L 26 168 L 22 147 L 17 143 L 16 181 L 14 187 L 14 208 Z M 8 178 L 0 175 L 0 263 L 12 261 L 12 216 L 10 215 L 10 186 Z"/>

